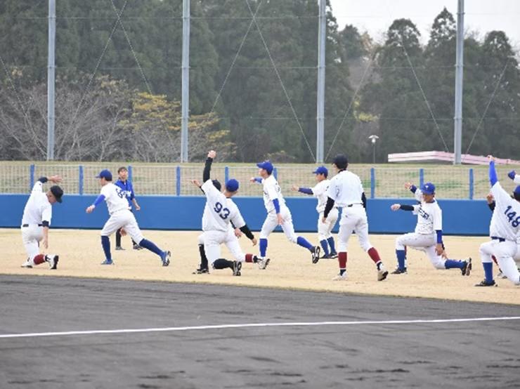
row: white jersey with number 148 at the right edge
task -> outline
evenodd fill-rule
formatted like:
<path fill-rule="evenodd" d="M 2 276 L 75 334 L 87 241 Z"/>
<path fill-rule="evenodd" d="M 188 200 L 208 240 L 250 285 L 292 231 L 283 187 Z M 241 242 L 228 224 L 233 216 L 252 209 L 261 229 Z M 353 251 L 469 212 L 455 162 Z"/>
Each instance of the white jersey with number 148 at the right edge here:
<path fill-rule="evenodd" d="M 520 230 L 520 202 L 512 199 L 500 183 L 491 187 L 495 197 L 495 210 L 489 226 L 490 237 L 498 237 L 516 242 Z"/>

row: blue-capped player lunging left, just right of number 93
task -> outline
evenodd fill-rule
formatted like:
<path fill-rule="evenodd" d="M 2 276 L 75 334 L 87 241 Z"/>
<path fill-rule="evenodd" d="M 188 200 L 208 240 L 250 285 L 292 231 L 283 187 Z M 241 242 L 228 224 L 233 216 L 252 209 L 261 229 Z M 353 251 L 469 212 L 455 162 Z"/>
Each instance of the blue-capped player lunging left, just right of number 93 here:
<path fill-rule="evenodd" d="M 259 168 L 260 177 L 252 177 L 250 181 L 252 183 L 261 183 L 264 187 L 264 205 L 267 210 L 267 218 L 260 231 L 259 258 L 262 261 L 266 258 L 267 238 L 276 226 L 280 225 L 287 239 L 311 251 L 312 262 L 318 263 L 320 260 L 320 246 L 313 246 L 307 239 L 299 237 L 294 233 L 291 211 L 285 205 L 280 185 L 278 185 L 276 178 L 272 176 L 273 164 L 271 164 L 271 161 L 263 161 L 256 164 L 256 166 Z"/>

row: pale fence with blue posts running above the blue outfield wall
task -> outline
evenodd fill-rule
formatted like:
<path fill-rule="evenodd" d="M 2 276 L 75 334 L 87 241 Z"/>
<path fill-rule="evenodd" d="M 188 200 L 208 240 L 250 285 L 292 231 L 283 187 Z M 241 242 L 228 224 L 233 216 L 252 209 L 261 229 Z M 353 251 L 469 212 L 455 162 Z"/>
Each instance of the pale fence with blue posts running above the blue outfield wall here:
<path fill-rule="evenodd" d="M 202 196 L 191 180 L 202 181 L 203 164 L 152 165 L 152 164 L 0 164 L 0 193 L 27 193 L 34 181 L 41 176 L 57 174 L 67 194 L 96 194 L 100 187 L 96 175 L 102 169 L 110 169 L 114 181 L 117 169 L 126 166 L 129 179 L 134 184 L 137 195 L 160 196 Z M 292 191 L 293 185 L 313 187 L 316 178 L 314 165 L 279 165 L 275 167 L 275 177 L 282 187 L 285 197 L 301 197 L 306 194 Z M 498 166 L 498 176 L 502 186 L 512 191 L 514 183 L 507 178 L 511 166 Z M 431 182 L 436 185 L 437 197 L 441 199 L 483 199 L 489 192 L 487 166 L 363 166 L 352 165 L 349 170 L 360 176 L 367 197 L 408 197 L 404 183 L 416 185 Z M 520 170 L 520 169 L 517 169 Z M 249 179 L 257 176 L 254 164 L 231 165 L 214 164 L 211 178 L 225 183 L 229 178 L 240 182 L 240 196 L 261 196 L 259 185 Z M 332 177 L 333 173 L 330 172 Z"/>

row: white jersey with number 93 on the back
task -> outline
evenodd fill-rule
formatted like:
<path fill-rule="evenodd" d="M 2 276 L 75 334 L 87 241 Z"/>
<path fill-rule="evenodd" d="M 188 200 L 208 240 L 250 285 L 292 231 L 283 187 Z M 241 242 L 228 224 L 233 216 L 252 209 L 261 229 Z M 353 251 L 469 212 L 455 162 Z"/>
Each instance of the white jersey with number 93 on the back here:
<path fill-rule="evenodd" d="M 207 180 L 201 187 L 206 194 L 206 206 L 202 214 L 202 231 L 222 231 L 229 230 L 229 223 L 240 225 L 244 219 L 238 211 L 238 206 L 228 199 L 213 185 L 212 180 Z M 240 225 L 242 227 L 245 223 Z"/>

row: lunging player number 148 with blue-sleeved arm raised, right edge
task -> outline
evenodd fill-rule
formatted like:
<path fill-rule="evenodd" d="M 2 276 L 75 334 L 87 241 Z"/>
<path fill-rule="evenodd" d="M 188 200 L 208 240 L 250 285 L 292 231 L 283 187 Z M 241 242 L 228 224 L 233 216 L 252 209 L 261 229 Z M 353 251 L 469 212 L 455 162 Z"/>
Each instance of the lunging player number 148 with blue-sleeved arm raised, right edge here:
<path fill-rule="evenodd" d="M 475 286 L 495 286 L 493 261 L 495 256 L 502 273 L 514 284 L 520 285 L 520 272 L 513 257 L 520 234 L 520 186 L 514 190 L 514 199 L 502 188 L 495 171 L 495 160 L 489 157 L 489 180 L 495 209 L 489 226 L 490 242 L 481 244 L 479 252 L 484 268 L 484 279 Z"/>

